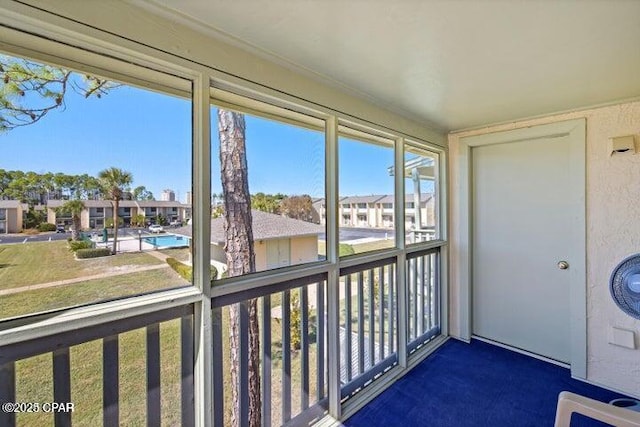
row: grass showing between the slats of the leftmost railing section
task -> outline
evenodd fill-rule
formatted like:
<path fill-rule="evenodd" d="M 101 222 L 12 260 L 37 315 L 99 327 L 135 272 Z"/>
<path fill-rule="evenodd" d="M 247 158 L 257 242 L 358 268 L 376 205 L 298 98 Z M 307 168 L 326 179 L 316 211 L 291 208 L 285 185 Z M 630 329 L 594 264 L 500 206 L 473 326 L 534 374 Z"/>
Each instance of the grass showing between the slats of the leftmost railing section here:
<path fill-rule="evenodd" d="M 146 425 L 146 334 L 144 329 L 119 336 L 120 425 Z M 160 390 L 163 426 L 179 426 L 180 321 L 160 325 Z M 16 401 L 53 401 L 51 353 L 16 363 Z M 71 348 L 71 401 L 74 426 L 102 425 L 102 341 Z M 53 415 L 18 414 L 19 426 L 51 426 Z"/>

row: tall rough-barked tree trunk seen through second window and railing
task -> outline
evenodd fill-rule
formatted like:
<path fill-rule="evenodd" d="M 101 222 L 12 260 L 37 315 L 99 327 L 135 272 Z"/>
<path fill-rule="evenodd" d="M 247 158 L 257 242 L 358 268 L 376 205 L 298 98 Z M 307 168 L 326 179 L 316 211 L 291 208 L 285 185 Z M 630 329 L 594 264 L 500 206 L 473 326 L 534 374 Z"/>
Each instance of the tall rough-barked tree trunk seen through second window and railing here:
<path fill-rule="evenodd" d="M 225 253 L 229 277 L 255 271 L 255 252 L 251 217 L 251 196 L 245 146 L 244 116 L 218 110 L 220 136 L 220 175 L 224 197 Z M 248 301 L 249 354 L 240 354 L 240 307 L 229 307 L 229 335 L 231 351 L 232 423 L 241 424 L 239 361 L 249 358 L 249 425 L 261 424 L 260 399 L 260 342 L 258 308 L 255 299 Z"/>

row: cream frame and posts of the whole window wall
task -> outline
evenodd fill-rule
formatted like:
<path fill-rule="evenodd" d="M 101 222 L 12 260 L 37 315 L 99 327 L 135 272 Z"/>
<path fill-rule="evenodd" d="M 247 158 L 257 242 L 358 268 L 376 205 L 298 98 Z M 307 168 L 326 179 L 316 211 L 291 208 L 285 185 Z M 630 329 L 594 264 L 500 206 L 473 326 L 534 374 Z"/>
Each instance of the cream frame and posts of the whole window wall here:
<path fill-rule="evenodd" d="M 64 20 L 62 20 L 64 21 Z M 19 27 L 21 31 L 12 27 Z M 84 30 L 84 31 L 81 31 Z M 39 34 L 39 35 L 36 35 Z M 79 47 L 78 47 L 79 46 Z M 60 315 L 49 318 L 34 318 L 33 322 L 27 322 L 18 327 L 0 331 L 0 340 L 3 343 L 15 343 L 29 339 L 38 339 L 54 335 L 64 331 L 101 324 L 122 317 L 151 313 L 160 308 L 177 307 L 186 304 L 195 306 L 195 346 L 196 346 L 196 422 L 198 425 L 210 425 L 212 421 L 212 381 L 209 369 L 212 366 L 212 316 L 211 298 L 222 296 L 242 289 L 266 286 L 268 284 L 303 277 L 317 272 L 327 274 L 327 280 L 331 283 L 339 281 L 341 267 L 357 265 L 369 261 L 383 259 L 384 257 L 397 257 L 397 277 L 404 280 L 404 265 L 408 252 L 440 247 L 442 264 L 440 265 L 441 286 L 441 316 L 442 332 L 447 335 L 447 297 L 446 288 L 446 148 L 433 143 L 420 141 L 404 134 L 400 130 L 389 129 L 384 126 L 372 124 L 367 120 L 349 116 L 343 112 L 332 110 L 326 106 L 320 106 L 301 97 L 283 93 L 274 89 L 260 86 L 256 83 L 223 73 L 212 67 L 188 61 L 184 58 L 170 55 L 143 46 L 130 40 L 119 39 L 112 34 L 106 34 L 97 29 L 88 29 L 78 23 L 66 23 L 58 21 L 57 25 L 42 25 L 38 20 L 15 20 L 15 16 L 7 14 L 0 17 L 0 51 L 9 55 L 30 58 L 35 61 L 59 65 L 81 72 L 92 73 L 108 79 L 128 82 L 147 89 L 171 93 L 179 96 L 187 96 L 193 103 L 193 234 L 200 239 L 194 239 L 193 263 L 194 263 L 194 287 L 183 289 L 171 289 L 160 291 L 150 295 L 134 296 L 104 304 L 94 304 L 86 307 L 64 310 Z M 134 65 L 135 64 L 135 65 Z M 214 84 L 212 85 L 212 82 Z M 284 271 L 267 271 L 263 274 L 238 278 L 230 283 L 225 283 L 211 289 L 208 280 L 210 273 L 210 203 L 211 194 L 211 129 L 210 106 L 211 91 L 234 89 L 234 94 L 240 93 L 240 98 L 254 99 L 258 102 L 268 102 L 277 107 L 283 105 L 293 106 L 292 111 L 321 118 L 324 122 L 326 140 L 325 157 L 325 191 L 326 191 L 326 227 L 327 227 L 327 259 L 325 262 L 292 267 Z M 230 92 L 231 93 L 231 92 Z M 250 98 L 248 95 L 252 95 Z M 303 94 L 300 94 L 303 95 Z M 219 93 L 216 95 L 219 97 Z M 239 105 L 238 98 L 226 99 L 229 105 Z M 263 104 L 260 105 L 260 108 Z M 268 108 L 259 109 L 257 112 L 269 115 L 274 114 Z M 280 118 L 281 119 L 281 118 Z M 291 119 L 291 118 L 290 118 Z M 349 257 L 341 260 L 338 256 L 338 229 L 341 220 L 339 214 L 338 197 L 338 135 L 343 134 L 344 128 L 353 129 L 356 134 L 377 136 L 384 140 L 393 141 L 394 166 L 401 170 L 404 164 L 404 146 L 410 141 L 418 144 L 426 150 L 440 153 L 439 162 L 439 186 L 440 196 L 440 237 L 438 241 L 430 241 L 412 245 L 407 249 L 404 242 L 404 178 L 402 174 L 396 174 L 395 179 L 395 232 L 396 247 L 381 251 L 380 253 L 368 253 Z M 361 139 L 361 138 L 356 138 Z M 231 286 L 233 285 L 233 287 Z M 402 288 L 402 287 L 400 287 Z M 339 372 L 335 370 L 339 360 L 337 353 L 339 336 L 339 295 L 337 286 L 329 286 L 327 304 L 329 307 L 329 412 L 340 419 L 343 414 L 348 414 L 357 408 L 357 404 L 350 406 L 343 413 L 340 402 Z M 399 304 L 406 302 L 406 296 L 398 295 Z M 403 310 L 403 308 L 401 308 Z M 331 327 L 334 326 L 334 327 Z M 406 337 L 406 329 L 400 325 L 399 335 Z M 331 344 L 333 343 L 333 344 Z M 437 343 L 434 343 L 434 345 Z M 400 369 L 411 367 L 403 351 L 404 346 L 399 346 Z M 428 349 L 427 349 L 428 350 Z M 425 356 L 426 356 L 425 350 Z M 418 363 L 414 360 L 413 364 Z M 391 383 L 401 373 L 390 377 L 386 383 Z M 366 401 L 367 393 L 362 396 L 361 402 Z M 356 402 L 357 403 L 357 402 Z"/>

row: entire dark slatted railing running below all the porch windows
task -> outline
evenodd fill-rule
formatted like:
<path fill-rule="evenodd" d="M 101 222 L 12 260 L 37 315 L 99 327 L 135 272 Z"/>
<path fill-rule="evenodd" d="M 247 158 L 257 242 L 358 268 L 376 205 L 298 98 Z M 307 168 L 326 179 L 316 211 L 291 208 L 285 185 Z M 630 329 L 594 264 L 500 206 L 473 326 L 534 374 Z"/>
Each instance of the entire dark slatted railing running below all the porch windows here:
<path fill-rule="evenodd" d="M 419 357 L 423 353 L 418 349 L 440 334 L 439 251 L 439 247 L 413 250 L 406 258 L 400 258 L 403 268 L 399 268 L 396 255 L 369 256 L 368 261 L 359 264 L 351 260 L 334 276 L 339 279 L 333 285 L 328 283 L 328 277 L 335 273 L 320 268 L 305 277 L 272 280 L 268 285 L 258 280 L 256 286 L 242 285 L 236 290 L 234 285 L 214 294 L 210 330 L 213 363 L 204 368 L 205 375 L 213 378 L 213 424 L 229 425 L 233 409 L 237 409 L 241 425 L 248 419 L 252 363 L 249 302 L 255 303 L 251 307 L 256 309 L 258 323 L 256 366 L 262 425 L 308 425 L 328 412 L 331 399 L 351 401 L 369 385 L 387 378 L 389 371 L 396 372 L 402 354 Z M 331 322 L 329 286 L 336 286 L 331 295 L 338 301 Z M 403 307 L 399 301 L 404 301 Z M 231 307 L 235 307 L 238 318 L 237 365 L 232 365 L 231 357 Z M 79 393 L 83 393 L 78 388 L 80 384 L 90 384 L 93 401 L 98 402 L 92 407 L 97 413 L 92 415 L 92 424 L 127 423 L 130 419 L 123 417 L 137 411 L 142 414 L 135 420 L 138 423 L 144 424 L 146 419 L 147 425 L 193 425 L 196 321 L 194 305 L 189 302 L 65 329 L 56 335 L 0 344 L 0 402 L 33 397 L 32 392 L 24 390 L 26 376 L 48 376 L 50 400 L 54 402 L 77 401 Z M 163 338 L 163 325 L 170 323 L 174 333 Z M 333 334 L 334 341 L 329 341 L 330 328 L 338 329 Z M 139 334 L 137 344 L 126 338 L 132 331 Z M 74 356 L 80 354 L 78 348 L 83 345 L 94 345 L 90 360 Z M 134 363 L 123 350 L 136 345 L 142 349 Z M 331 346 L 337 346 L 337 352 Z M 166 358 L 166 351 L 179 356 Z M 330 358 L 330 354 L 339 356 Z M 23 364 L 34 356 L 46 361 L 38 365 L 38 370 L 23 369 Z M 90 380 L 87 372 L 82 373 L 87 364 L 95 365 Z M 238 372 L 235 397 L 231 382 L 234 366 Z M 329 372 L 339 375 L 339 383 L 333 382 L 334 389 L 329 386 Z M 131 391 L 129 377 L 136 378 L 138 392 Z M 166 407 L 167 393 L 180 402 L 179 409 Z M 132 404 L 131 399 L 138 403 Z M 132 405 L 136 410 L 130 410 Z M 42 416 L 49 417 L 45 424 L 63 426 L 69 425 L 79 412 Z M 30 420 L 25 414 L 0 412 L 1 426 L 30 425 Z"/>

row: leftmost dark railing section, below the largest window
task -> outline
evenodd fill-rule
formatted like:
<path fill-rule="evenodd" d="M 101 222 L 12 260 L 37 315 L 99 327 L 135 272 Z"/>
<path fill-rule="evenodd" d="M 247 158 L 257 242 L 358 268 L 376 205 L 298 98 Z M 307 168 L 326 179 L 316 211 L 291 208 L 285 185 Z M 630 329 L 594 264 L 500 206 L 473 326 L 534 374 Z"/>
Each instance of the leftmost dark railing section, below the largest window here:
<path fill-rule="evenodd" d="M 161 325 L 166 330 L 164 325 L 170 323 L 175 333 L 163 340 Z M 76 416 L 93 417 L 84 423 L 98 424 L 100 412 L 104 426 L 139 423 L 141 420 L 123 419 L 131 411 L 121 408 L 131 406 L 133 398 L 142 398 L 132 392 L 141 391 L 140 384 L 146 411 L 136 409 L 142 410 L 138 415 L 146 418 L 147 425 L 160 425 L 165 416 L 172 417 L 169 424 L 194 425 L 193 323 L 190 304 L 0 346 L 0 402 L 22 405 L 3 406 L 0 425 L 69 426 Z M 143 334 L 142 340 L 132 341 L 128 335 L 132 331 Z M 139 354 L 141 360 L 133 361 L 131 347 L 139 350 L 141 341 L 146 346 L 144 354 Z M 83 345 L 92 347 L 79 351 Z M 161 353 L 167 352 L 175 356 L 171 379 L 164 378 L 167 363 L 161 363 Z M 133 372 L 133 365 L 140 370 Z M 38 387 L 52 388 L 52 392 L 40 393 Z M 90 393 L 92 402 L 101 398 L 101 408 L 89 411 L 82 407 L 79 400 Z M 47 397 L 36 401 L 34 396 Z M 164 408 L 167 400 L 180 403 Z M 67 410 L 54 410 L 57 405 L 66 405 L 60 407 Z"/>

